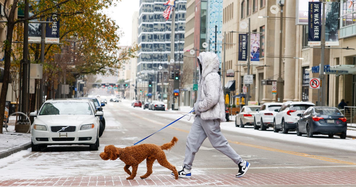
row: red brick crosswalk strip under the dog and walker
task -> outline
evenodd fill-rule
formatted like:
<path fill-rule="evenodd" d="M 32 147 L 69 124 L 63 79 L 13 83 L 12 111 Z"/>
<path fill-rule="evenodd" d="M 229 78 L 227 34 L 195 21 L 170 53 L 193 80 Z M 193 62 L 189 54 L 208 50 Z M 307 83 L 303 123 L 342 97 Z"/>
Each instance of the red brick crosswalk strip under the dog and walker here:
<path fill-rule="evenodd" d="M 356 171 L 254 173 L 235 175 L 196 175 L 175 180 L 171 175 L 151 175 L 142 180 L 127 176 L 73 176 L 38 179 L 0 179 L 0 186 L 208 186 L 208 185 L 356 185 Z"/>

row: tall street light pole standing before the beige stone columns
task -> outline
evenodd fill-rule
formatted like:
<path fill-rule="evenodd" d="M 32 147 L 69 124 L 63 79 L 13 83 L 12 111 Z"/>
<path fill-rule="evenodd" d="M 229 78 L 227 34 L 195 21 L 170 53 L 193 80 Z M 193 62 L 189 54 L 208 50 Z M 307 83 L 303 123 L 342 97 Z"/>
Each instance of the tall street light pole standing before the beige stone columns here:
<path fill-rule="evenodd" d="M 283 100 L 283 79 L 282 79 L 282 37 L 283 37 L 283 6 L 284 1 L 280 2 L 279 6 L 281 6 L 281 17 L 280 17 L 280 30 L 279 30 L 279 67 L 278 67 L 278 78 L 277 78 L 277 96 L 276 102 L 280 102 L 280 98 Z"/>

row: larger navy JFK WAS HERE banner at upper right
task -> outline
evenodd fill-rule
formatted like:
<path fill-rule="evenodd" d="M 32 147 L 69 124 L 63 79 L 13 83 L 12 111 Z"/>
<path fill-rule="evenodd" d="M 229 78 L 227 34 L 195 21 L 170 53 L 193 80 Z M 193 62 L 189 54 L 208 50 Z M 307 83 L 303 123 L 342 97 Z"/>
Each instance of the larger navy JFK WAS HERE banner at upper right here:
<path fill-rule="evenodd" d="M 321 45 L 321 2 L 309 2 L 308 46 Z"/>

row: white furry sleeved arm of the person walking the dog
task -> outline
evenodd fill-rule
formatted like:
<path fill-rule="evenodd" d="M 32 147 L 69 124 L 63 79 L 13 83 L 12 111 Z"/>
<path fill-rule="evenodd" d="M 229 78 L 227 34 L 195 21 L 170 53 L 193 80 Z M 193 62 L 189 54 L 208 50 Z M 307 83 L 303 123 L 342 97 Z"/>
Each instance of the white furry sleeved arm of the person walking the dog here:
<path fill-rule="evenodd" d="M 221 82 L 218 75 L 208 74 L 204 80 L 204 95 L 198 104 L 198 110 L 204 112 L 213 108 L 219 101 Z"/>

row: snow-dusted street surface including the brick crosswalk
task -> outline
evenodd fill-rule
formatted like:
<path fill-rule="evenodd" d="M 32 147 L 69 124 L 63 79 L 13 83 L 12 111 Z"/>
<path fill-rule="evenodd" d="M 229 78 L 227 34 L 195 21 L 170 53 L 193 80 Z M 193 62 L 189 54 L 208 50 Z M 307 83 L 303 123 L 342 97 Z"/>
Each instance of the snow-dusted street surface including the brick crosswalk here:
<path fill-rule="evenodd" d="M 153 165 L 152 175 L 146 180 L 141 180 L 139 176 L 146 172 L 146 163 L 142 162 L 135 178 L 137 183 L 127 183 L 125 178 L 128 175 L 123 169 L 124 163 L 122 161 L 100 159 L 99 154 L 103 151 L 105 145 L 131 146 L 171 123 L 172 118 L 163 115 L 169 113 L 170 111 L 133 108 L 124 102 L 108 102 L 104 107 L 106 128 L 103 136 L 100 137 L 99 151 L 89 151 L 88 146 L 48 146 L 42 152 L 31 152 L 30 150 L 22 152 L 21 156 L 5 160 L 7 167 L 0 167 L 1 176 L 13 182 L 2 183 L 0 186 L 23 185 L 19 182 L 23 178 L 30 180 L 30 182 L 27 181 L 29 186 L 35 186 L 38 185 L 38 182 L 36 183 L 38 179 L 58 179 L 60 181 L 59 179 L 63 177 L 74 177 L 74 181 L 78 178 L 83 180 L 83 176 L 89 177 L 89 181 L 95 180 L 92 177 L 104 177 L 105 183 L 96 182 L 87 186 L 116 186 L 118 184 L 115 182 L 112 185 L 107 183 L 112 181 L 113 176 L 119 177 L 116 178 L 116 182 L 121 181 L 121 185 L 124 186 L 185 186 L 192 181 L 195 181 L 197 186 L 208 185 L 208 183 L 226 186 L 356 185 L 356 150 L 328 149 L 321 146 L 300 144 L 298 141 L 283 141 L 273 139 L 273 137 L 231 131 L 223 131 L 225 137 L 229 140 L 229 144 L 243 159 L 251 163 L 248 173 L 241 178 L 235 177 L 238 171 L 235 163 L 215 150 L 208 140 L 205 140 L 195 156 L 192 179 L 189 180 L 174 180 L 170 174 L 171 171 L 160 166 L 157 162 Z M 176 166 L 179 171 L 184 160 L 185 139 L 190 126 L 190 122 L 179 120 L 140 144 L 162 145 L 176 136 L 178 142 L 170 151 L 166 151 L 166 156 L 167 160 Z M 320 138 L 320 141 L 323 141 L 323 139 Z M 18 173 L 22 174 L 19 176 Z M 110 180 L 106 180 L 109 176 L 111 177 Z M 101 181 L 97 178 L 96 181 Z M 156 179 L 161 183 L 155 181 Z M 153 184 L 150 180 L 153 181 Z M 53 185 L 86 186 L 85 183 L 73 185 L 74 182 L 72 182 L 72 185 L 68 185 L 66 182 L 58 183 L 58 181 Z M 145 181 L 145 183 L 142 184 L 142 181 Z M 52 186 L 46 184 L 46 186 Z"/>

